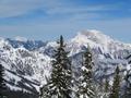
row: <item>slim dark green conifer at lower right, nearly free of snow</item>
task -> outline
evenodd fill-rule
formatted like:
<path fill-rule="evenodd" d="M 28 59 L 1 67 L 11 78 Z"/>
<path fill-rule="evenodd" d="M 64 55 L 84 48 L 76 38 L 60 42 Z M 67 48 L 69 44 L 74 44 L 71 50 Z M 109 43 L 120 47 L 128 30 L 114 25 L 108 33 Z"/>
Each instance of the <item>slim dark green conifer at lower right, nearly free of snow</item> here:
<path fill-rule="evenodd" d="M 120 91 L 120 75 L 119 75 L 119 73 L 120 73 L 119 66 L 117 66 L 109 98 L 119 98 L 119 96 L 120 96 L 120 94 L 119 94 L 119 91 Z"/>

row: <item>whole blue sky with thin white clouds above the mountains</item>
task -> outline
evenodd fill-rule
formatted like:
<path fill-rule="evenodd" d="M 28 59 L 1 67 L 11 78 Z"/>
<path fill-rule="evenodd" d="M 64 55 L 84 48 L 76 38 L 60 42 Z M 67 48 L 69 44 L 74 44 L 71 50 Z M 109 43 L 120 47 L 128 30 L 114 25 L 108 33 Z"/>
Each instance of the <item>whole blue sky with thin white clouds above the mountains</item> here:
<path fill-rule="evenodd" d="M 131 0 L 0 0 L 0 36 L 55 40 L 97 29 L 131 42 Z"/>

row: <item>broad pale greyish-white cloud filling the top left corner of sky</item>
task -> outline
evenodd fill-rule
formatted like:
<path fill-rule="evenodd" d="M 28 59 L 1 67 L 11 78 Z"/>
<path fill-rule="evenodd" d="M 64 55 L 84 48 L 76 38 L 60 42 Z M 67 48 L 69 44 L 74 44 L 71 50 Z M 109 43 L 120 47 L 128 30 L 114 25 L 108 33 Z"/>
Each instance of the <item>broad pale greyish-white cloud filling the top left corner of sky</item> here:
<path fill-rule="evenodd" d="M 56 1 L 56 2 L 55 2 Z M 11 17 L 26 14 L 36 9 L 55 7 L 58 0 L 1 0 L 0 17 Z"/>

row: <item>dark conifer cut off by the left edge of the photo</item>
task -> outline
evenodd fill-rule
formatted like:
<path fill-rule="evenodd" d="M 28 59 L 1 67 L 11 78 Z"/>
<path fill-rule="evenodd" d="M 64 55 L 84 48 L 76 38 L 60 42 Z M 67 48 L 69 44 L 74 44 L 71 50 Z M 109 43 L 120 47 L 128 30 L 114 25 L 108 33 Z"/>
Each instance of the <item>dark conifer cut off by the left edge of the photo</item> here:
<path fill-rule="evenodd" d="M 0 98 L 3 98 L 3 91 L 5 90 L 5 83 L 4 83 L 4 69 L 2 64 L 0 64 Z"/>

